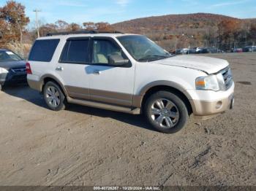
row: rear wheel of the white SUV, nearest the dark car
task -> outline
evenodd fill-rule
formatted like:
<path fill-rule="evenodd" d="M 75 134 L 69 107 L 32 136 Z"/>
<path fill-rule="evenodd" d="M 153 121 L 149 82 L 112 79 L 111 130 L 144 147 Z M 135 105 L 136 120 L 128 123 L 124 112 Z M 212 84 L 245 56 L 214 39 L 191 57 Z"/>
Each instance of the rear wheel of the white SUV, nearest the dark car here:
<path fill-rule="evenodd" d="M 56 82 L 47 82 L 43 88 L 45 103 L 53 111 L 61 111 L 66 107 L 66 97 Z"/>

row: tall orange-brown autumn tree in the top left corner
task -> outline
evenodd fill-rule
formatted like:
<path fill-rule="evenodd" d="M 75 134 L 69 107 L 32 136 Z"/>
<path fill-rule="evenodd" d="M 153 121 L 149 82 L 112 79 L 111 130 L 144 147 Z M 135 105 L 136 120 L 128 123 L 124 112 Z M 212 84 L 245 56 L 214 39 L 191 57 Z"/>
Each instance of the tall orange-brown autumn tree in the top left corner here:
<path fill-rule="evenodd" d="M 29 23 L 29 17 L 25 15 L 25 7 L 15 1 L 7 1 L 4 7 L 0 8 L 1 25 L 7 26 L 7 32 L 14 39 L 20 41 L 20 47 L 23 47 L 23 33 L 26 25 Z M 22 51 L 21 51 L 22 52 Z"/>

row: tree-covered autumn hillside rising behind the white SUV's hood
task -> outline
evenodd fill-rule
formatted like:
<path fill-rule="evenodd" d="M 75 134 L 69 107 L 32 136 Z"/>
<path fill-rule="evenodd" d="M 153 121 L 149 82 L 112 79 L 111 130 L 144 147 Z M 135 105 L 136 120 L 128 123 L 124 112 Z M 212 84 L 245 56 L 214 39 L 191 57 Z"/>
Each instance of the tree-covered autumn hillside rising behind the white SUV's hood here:
<path fill-rule="evenodd" d="M 225 26 L 219 28 L 219 23 L 223 23 L 222 21 L 225 22 Z M 256 23 L 256 19 L 238 19 L 225 15 L 195 13 L 143 17 L 116 23 L 112 26 L 117 31 L 144 34 L 167 50 L 210 46 L 223 47 L 227 50 L 233 47 L 234 43 L 242 47 L 255 42 L 253 33 L 249 31 L 249 28 L 252 28 L 252 23 Z M 220 32 L 223 33 L 223 30 L 233 34 L 220 36 Z M 236 36 L 236 42 L 232 36 Z"/>

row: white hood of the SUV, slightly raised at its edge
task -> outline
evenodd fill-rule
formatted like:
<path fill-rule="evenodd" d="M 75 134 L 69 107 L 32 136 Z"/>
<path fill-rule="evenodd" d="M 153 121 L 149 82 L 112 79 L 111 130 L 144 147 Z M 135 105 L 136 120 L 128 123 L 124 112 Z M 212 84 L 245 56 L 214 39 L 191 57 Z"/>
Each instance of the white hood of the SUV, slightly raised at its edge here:
<path fill-rule="evenodd" d="M 177 55 L 167 59 L 154 61 L 169 66 L 179 66 L 189 69 L 205 71 L 207 74 L 214 74 L 225 69 L 229 63 L 219 58 L 210 58 L 197 55 Z"/>

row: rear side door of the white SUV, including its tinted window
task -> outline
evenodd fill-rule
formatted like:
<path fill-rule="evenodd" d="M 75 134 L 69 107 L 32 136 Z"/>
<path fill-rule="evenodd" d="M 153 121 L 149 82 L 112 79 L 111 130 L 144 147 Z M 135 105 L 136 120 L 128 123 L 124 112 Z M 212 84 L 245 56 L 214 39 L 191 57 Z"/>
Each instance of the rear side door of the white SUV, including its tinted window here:
<path fill-rule="evenodd" d="M 89 75 L 86 73 L 91 55 L 89 44 L 89 37 L 67 39 L 56 66 L 71 98 L 89 99 Z"/>

